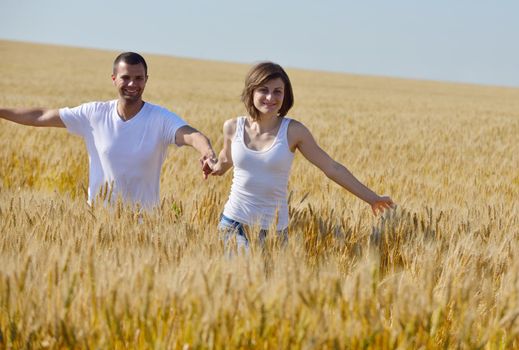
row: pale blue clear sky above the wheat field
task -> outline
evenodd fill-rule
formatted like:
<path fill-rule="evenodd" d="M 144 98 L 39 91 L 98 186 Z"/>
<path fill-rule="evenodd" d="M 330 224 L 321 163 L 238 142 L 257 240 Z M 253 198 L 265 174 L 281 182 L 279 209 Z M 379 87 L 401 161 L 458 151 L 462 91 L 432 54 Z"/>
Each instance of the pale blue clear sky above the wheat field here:
<path fill-rule="evenodd" d="M 519 1 L 0 0 L 0 39 L 519 87 Z"/>

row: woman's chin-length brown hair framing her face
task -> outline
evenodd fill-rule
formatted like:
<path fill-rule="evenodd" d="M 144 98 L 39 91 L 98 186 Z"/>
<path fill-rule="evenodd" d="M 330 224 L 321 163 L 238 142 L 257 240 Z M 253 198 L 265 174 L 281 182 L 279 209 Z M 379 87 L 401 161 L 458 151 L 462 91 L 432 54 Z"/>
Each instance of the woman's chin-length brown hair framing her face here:
<path fill-rule="evenodd" d="M 283 68 L 279 64 L 273 62 L 258 63 L 252 67 L 247 74 L 247 77 L 245 78 L 245 87 L 241 94 L 241 101 L 245 104 L 245 108 L 253 120 L 259 118 L 259 111 L 254 107 L 254 90 L 265 84 L 267 81 L 276 78 L 281 78 L 283 83 L 285 83 L 285 97 L 283 98 L 283 104 L 281 105 L 278 116 L 286 116 L 290 108 L 294 105 L 292 84 Z"/>

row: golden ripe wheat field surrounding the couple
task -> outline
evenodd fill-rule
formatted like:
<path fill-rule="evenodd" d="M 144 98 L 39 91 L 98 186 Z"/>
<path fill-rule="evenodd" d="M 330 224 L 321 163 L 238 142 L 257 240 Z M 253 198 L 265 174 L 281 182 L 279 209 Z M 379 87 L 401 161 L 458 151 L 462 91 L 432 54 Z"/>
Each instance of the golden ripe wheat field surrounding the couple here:
<path fill-rule="evenodd" d="M 113 99 L 116 54 L 0 41 L 0 106 Z M 145 57 L 145 100 L 219 151 L 249 65 Z M 288 246 L 228 258 L 231 172 L 171 147 L 160 209 L 89 207 L 80 138 L 0 120 L 0 348 L 519 348 L 519 89 L 287 71 L 289 116 L 396 210 L 298 154 Z"/>

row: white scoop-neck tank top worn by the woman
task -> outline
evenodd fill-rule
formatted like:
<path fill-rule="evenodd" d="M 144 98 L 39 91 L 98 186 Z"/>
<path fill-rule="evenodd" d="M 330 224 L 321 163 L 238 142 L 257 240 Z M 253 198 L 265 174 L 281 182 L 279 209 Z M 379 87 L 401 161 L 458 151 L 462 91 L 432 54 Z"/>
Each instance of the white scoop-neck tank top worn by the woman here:
<path fill-rule="evenodd" d="M 230 219 L 268 229 L 277 214 L 277 230 L 288 227 L 287 186 L 294 153 L 288 144 L 289 118 L 283 117 L 270 147 L 254 151 L 245 145 L 245 117 L 238 117 L 231 143 L 234 176 L 223 214 Z"/>

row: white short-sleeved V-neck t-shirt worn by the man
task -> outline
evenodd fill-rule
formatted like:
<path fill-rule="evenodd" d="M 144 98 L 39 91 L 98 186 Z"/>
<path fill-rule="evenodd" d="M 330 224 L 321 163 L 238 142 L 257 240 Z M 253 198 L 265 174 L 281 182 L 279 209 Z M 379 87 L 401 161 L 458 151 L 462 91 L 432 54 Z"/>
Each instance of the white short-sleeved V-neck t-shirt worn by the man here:
<path fill-rule="evenodd" d="M 177 130 L 187 125 L 184 120 L 146 102 L 139 113 L 124 121 L 117 113 L 117 100 L 62 108 L 59 114 L 68 131 L 85 140 L 89 203 L 108 186 L 108 200 L 120 197 L 144 208 L 159 204 L 162 163 L 168 146 L 175 144 Z"/>

